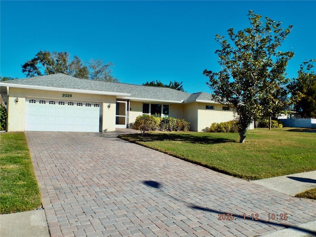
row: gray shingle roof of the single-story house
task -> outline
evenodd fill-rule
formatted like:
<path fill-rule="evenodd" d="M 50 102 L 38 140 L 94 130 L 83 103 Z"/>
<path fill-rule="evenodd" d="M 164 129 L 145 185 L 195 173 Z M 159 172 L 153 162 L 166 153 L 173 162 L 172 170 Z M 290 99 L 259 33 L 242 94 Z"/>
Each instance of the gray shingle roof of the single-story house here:
<path fill-rule="evenodd" d="M 62 89 L 88 90 L 100 92 L 125 93 L 124 98 L 140 100 L 174 101 L 175 103 L 191 103 L 196 100 L 209 100 L 210 94 L 200 92 L 190 94 L 168 87 L 143 86 L 118 82 L 78 79 L 64 74 L 52 74 L 40 77 L 1 81 L 5 85 L 25 85 L 39 87 L 55 87 Z"/>

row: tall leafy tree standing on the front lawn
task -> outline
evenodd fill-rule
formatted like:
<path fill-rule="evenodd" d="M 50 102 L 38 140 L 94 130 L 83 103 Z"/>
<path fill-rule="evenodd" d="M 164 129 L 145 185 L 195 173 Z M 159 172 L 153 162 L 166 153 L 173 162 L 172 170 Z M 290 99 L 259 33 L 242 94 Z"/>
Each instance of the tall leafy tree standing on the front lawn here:
<path fill-rule="evenodd" d="M 237 112 L 240 143 L 254 120 L 267 113 L 276 113 L 284 103 L 278 90 L 284 90 L 287 79 L 285 69 L 293 52 L 278 48 L 290 33 L 292 26 L 281 27 L 281 22 L 265 18 L 249 10 L 250 27 L 242 31 L 228 30 L 229 40 L 216 35 L 221 49 L 215 51 L 221 70 L 204 70 L 209 78 L 213 100 L 231 105 Z"/>

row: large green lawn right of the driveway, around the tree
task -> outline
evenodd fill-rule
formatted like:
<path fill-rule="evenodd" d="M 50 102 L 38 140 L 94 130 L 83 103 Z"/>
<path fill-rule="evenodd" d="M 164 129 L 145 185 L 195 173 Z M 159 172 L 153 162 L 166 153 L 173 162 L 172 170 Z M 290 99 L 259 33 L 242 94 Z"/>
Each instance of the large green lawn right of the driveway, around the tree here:
<path fill-rule="evenodd" d="M 238 143 L 237 133 L 150 132 L 145 137 L 119 137 L 243 179 L 316 170 L 315 132 L 255 129 L 248 131 L 244 144 Z"/>

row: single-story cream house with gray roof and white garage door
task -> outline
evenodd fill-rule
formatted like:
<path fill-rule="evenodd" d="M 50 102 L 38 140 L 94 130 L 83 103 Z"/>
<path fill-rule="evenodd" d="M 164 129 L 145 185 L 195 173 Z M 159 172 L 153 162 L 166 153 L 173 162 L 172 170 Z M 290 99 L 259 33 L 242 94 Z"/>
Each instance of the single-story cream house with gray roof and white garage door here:
<path fill-rule="evenodd" d="M 0 82 L 7 131 L 106 132 L 126 128 L 143 114 L 184 118 L 190 130 L 234 119 L 210 94 L 166 87 L 78 79 L 64 74 Z"/>

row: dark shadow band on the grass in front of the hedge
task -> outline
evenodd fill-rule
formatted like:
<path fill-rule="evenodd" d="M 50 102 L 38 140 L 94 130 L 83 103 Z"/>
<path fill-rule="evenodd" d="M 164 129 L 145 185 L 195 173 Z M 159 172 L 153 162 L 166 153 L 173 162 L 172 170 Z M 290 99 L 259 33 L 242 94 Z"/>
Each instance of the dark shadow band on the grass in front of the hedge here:
<path fill-rule="evenodd" d="M 233 139 L 227 138 L 214 138 L 207 136 L 194 136 L 192 134 L 185 133 L 146 133 L 145 136 L 140 134 L 133 134 L 134 138 L 140 139 L 142 142 L 152 142 L 152 141 L 181 141 L 187 143 L 195 144 L 218 144 L 226 142 L 237 142 Z"/>

